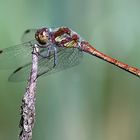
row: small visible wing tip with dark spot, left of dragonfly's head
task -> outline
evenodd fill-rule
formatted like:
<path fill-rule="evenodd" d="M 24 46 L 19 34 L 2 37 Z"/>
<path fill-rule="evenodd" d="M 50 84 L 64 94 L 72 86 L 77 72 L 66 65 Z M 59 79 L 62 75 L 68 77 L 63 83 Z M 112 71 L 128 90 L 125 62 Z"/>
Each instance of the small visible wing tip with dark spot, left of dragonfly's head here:
<path fill-rule="evenodd" d="M 34 40 L 36 31 L 37 29 L 27 29 L 21 37 L 21 42 L 24 43 Z"/>

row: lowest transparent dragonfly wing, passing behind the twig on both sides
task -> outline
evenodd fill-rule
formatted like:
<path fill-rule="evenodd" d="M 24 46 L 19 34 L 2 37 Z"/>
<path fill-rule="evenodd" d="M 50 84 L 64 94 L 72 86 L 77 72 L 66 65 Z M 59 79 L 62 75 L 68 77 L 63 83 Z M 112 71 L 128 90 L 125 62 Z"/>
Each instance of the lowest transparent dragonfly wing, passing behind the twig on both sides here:
<path fill-rule="evenodd" d="M 38 76 L 48 75 L 79 64 L 82 52 L 77 48 L 58 48 L 57 65 L 54 67 L 54 54 L 49 58 L 39 58 Z M 27 80 L 31 71 L 31 63 L 19 67 L 9 77 L 9 81 L 17 82 Z"/>

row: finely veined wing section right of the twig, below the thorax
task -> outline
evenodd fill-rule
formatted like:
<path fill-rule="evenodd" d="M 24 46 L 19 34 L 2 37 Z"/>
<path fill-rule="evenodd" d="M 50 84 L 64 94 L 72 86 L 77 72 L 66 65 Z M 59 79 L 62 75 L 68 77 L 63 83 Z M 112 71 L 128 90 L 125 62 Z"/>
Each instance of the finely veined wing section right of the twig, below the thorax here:
<path fill-rule="evenodd" d="M 82 51 L 77 48 L 59 48 L 58 51 L 59 52 L 56 56 L 58 59 L 56 66 L 54 67 L 54 57 L 47 61 L 41 61 L 41 67 L 38 71 L 38 76 L 48 75 L 67 68 L 74 67 L 80 63 L 83 56 Z"/>

